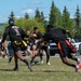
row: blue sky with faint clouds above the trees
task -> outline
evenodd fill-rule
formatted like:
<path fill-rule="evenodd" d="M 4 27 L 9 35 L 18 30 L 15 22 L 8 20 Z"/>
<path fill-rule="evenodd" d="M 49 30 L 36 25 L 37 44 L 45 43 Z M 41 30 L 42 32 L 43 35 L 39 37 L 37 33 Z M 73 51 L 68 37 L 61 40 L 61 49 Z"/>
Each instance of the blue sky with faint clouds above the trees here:
<path fill-rule="evenodd" d="M 19 18 L 28 13 L 30 17 L 35 16 L 37 8 L 40 12 L 43 11 L 45 18 L 49 18 L 52 1 L 63 12 L 66 5 L 70 17 L 75 16 L 77 5 L 81 13 L 81 0 L 0 0 L 0 23 L 6 23 L 11 12 L 14 12 L 15 17 Z"/>

